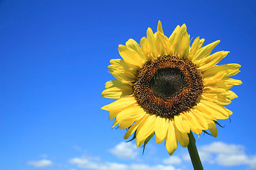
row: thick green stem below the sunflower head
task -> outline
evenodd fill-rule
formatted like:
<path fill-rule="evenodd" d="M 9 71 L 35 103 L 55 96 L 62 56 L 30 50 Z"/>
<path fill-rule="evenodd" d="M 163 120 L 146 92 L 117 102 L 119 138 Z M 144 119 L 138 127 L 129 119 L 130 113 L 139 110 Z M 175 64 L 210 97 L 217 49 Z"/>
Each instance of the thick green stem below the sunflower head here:
<path fill-rule="evenodd" d="M 195 170 L 203 170 L 203 165 L 201 163 L 198 151 L 196 149 L 196 140 L 195 137 L 193 137 L 193 133 L 188 133 L 189 137 L 189 144 L 188 144 L 188 152 L 191 157 L 191 161 L 193 164 L 193 168 Z"/>

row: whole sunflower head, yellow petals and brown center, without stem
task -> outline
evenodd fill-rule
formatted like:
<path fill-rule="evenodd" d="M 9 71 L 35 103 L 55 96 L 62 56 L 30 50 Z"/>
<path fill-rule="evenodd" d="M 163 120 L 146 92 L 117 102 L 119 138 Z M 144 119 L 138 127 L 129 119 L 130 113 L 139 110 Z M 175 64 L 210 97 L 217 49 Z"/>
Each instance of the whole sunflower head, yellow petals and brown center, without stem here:
<path fill-rule="evenodd" d="M 119 45 L 122 59 L 110 60 L 108 67 L 117 80 L 107 81 L 102 91 L 118 100 L 102 109 L 115 118 L 113 127 L 128 128 L 124 139 L 134 133 L 140 147 L 156 135 L 173 154 L 178 142 L 188 146 L 191 130 L 217 136 L 217 120 L 232 114 L 223 105 L 238 97 L 229 89 L 242 81 L 228 77 L 240 72 L 240 64 L 216 65 L 228 52 L 211 54 L 220 40 L 204 47 L 203 42 L 198 37 L 190 46 L 185 24 L 167 38 L 159 21 L 156 33 L 148 28 L 140 45 L 132 39 Z"/>

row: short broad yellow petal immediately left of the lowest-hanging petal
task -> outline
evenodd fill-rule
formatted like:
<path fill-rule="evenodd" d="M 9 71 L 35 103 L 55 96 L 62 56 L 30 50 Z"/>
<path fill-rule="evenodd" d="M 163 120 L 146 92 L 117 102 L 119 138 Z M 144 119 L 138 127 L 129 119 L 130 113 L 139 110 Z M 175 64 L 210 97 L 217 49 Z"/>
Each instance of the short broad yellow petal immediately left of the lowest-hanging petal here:
<path fill-rule="evenodd" d="M 168 119 L 156 116 L 155 132 L 156 132 L 156 143 L 161 143 L 166 137 L 168 129 Z"/>

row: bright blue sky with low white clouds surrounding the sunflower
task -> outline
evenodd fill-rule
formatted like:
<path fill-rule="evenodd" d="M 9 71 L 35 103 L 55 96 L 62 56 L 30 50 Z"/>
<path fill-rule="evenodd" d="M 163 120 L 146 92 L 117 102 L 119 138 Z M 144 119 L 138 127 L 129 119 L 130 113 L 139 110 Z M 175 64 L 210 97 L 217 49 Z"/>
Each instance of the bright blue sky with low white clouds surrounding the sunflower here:
<path fill-rule="evenodd" d="M 169 157 L 155 139 L 136 149 L 111 129 L 102 98 L 117 47 L 137 42 L 160 20 L 169 36 L 186 23 L 191 38 L 239 63 L 218 137 L 196 139 L 205 169 L 256 169 L 255 1 L 0 1 L 0 169 L 192 169 L 186 148 Z M 196 137 L 197 138 L 197 137 Z"/>

